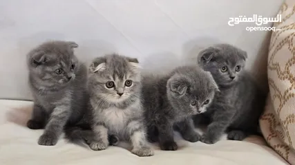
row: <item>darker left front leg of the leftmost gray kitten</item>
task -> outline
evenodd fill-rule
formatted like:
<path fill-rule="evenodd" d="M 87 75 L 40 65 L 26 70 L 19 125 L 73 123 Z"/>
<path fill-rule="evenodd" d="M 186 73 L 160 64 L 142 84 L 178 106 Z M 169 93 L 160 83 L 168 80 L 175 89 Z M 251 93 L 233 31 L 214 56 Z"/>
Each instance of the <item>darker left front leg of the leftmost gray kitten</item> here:
<path fill-rule="evenodd" d="M 37 102 L 34 103 L 32 109 L 32 118 L 28 120 L 27 126 L 29 129 L 44 129 L 47 120 L 46 110 Z"/>

